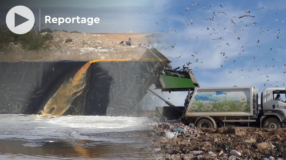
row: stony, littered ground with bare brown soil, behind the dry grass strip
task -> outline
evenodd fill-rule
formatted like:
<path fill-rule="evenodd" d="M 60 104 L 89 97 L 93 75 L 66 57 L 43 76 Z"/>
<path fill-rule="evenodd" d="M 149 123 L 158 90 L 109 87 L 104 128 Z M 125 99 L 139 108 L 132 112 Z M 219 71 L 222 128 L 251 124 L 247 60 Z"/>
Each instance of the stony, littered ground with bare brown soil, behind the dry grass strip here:
<path fill-rule="evenodd" d="M 44 33 L 43 33 L 44 34 Z M 51 33 L 53 41 L 47 42 L 52 46 L 61 46 L 62 54 L 81 55 L 89 59 L 96 55 L 96 59 L 139 58 L 149 47 L 150 34 L 144 33 L 69 33 L 56 31 Z M 122 40 L 131 38 L 131 46 L 122 46 Z M 67 42 L 70 39 L 71 42 Z M 94 56 L 93 56 L 94 57 Z M 95 59 L 95 58 L 92 58 Z"/>

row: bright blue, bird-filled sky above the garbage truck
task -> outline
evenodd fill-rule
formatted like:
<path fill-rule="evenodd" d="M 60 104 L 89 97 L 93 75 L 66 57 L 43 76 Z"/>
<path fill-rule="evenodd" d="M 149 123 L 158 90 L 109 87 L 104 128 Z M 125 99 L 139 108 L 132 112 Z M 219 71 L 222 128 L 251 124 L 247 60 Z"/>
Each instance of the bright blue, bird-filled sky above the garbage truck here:
<path fill-rule="evenodd" d="M 161 52 L 170 56 L 173 67 L 191 62 L 189 67 L 201 87 L 285 87 L 285 1 L 175 2 L 152 1 L 164 10 L 152 12 L 162 14 L 153 15 L 157 18 L 152 22 L 159 27 L 150 26 L 170 33 L 166 35 L 167 49 Z M 244 15 L 254 17 L 239 18 Z M 213 20 L 207 20 L 212 16 Z M 217 38 L 221 39 L 213 40 Z M 177 59 L 180 54 L 183 56 Z"/>

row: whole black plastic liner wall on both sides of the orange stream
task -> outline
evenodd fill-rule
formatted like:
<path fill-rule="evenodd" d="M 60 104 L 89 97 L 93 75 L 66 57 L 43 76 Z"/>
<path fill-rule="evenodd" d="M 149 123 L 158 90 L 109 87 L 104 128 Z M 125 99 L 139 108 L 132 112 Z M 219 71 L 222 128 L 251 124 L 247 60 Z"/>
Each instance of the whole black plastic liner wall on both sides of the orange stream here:
<path fill-rule="evenodd" d="M 0 62 L 0 113 L 41 114 L 59 88 L 73 80 L 86 63 L 89 62 Z M 92 63 L 84 75 L 84 87 L 66 100 L 70 105 L 61 115 L 150 116 L 148 112 L 154 111 L 155 106 L 140 101 L 153 84 L 158 64 L 156 61 Z M 53 113 L 57 107 L 61 106 L 45 113 L 57 115 Z"/>

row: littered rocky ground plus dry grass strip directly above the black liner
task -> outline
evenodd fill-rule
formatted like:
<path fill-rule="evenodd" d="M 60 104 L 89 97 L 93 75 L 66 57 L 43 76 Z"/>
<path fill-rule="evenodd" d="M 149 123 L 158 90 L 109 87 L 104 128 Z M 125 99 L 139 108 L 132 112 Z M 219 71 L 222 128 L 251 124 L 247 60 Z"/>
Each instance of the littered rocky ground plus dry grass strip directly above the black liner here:
<path fill-rule="evenodd" d="M 0 52 L 0 61 L 21 60 L 75 60 L 91 61 L 98 59 L 140 58 L 146 48 L 158 49 L 158 35 L 152 33 L 70 33 L 53 31 L 53 40 L 46 41 L 49 50 L 28 51 L 20 43 L 11 42 L 9 50 Z M 131 46 L 122 46 L 122 40 L 131 38 Z M 7 53 L 6 53 L 7 52 Z"/>

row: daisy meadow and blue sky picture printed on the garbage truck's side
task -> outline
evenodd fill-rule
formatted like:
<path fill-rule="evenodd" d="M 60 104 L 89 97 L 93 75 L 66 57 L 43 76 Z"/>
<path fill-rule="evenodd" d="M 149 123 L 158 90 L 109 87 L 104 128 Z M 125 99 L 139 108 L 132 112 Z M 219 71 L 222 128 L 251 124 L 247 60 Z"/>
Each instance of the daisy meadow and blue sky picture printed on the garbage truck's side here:
<path fill-rule="evenodd" d="M 189 112 L 250 112 L 249 91 L 197 92 Z"/>

